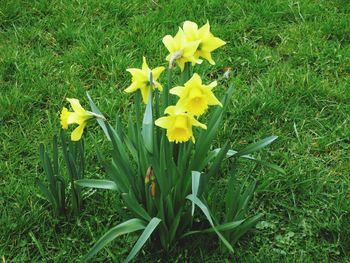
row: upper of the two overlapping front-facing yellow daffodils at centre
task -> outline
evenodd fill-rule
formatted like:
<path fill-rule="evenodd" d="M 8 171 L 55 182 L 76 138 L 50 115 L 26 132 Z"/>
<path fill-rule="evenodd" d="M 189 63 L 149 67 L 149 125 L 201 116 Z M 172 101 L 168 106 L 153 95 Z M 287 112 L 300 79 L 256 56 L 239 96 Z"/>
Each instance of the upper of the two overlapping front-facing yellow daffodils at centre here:
<path fill-rule="evenodd" d="M 190 114 L 199 116 L 208 109 L 209 105 L 219 105 L 222 107 L 221 102 L 215 97 L 212 91 L 216 85 L 216 81 L 213 81 L 209 85 L 202 84 L 200 76 L 195 73 L 184 86 L 174 87 L 170 90 L 170 93 L 180 97 L 176 105 L 185 109 Z"/>

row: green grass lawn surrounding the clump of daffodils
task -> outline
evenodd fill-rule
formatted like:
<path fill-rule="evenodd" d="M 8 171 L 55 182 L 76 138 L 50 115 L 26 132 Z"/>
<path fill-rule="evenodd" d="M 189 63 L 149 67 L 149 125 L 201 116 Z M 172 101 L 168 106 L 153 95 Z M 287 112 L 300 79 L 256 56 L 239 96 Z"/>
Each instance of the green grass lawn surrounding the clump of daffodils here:
<path fill-rule="evenodd" d="M 215 236 L 181 242 L 170 262 L 328 262 L 350 260 L 350 4 L 347 0 L 19 1 L 0 4 L 0 258 L 2 262 L 75 262 L 120 222 L 113 193 L 87 192 L 86 208 L 59 221 L 34 184 L 44 177 L 40 142 L 59 130 L 66 97 L 87 107 L 89 91 L 110 119 L 125 116 L 128 67 L 145 55 L 166 65 L 161 39 L 185 20 L 207 20 L 227 41 L 215 79 L 232 67 L 236 90 L 216 146 L 232 148 L 268 135 L 279 139 L 260 157 L 286 175 L 242 163 L 238 177 L 258 178 L 252 210 L 263 222 L 235 245 Z M 164 79 L 164 77 L 163 77 Z M 218 87 L 222 93 L 225 87 Z M 99 136 L 97 126 L 87 134 Z M 90 136 L 88 177 L 104 178 Z M 213 182 L 225 183 L 225 176 Z M 95 258 L 125 258 L 136 240 L 122 237 Z M 146 246 L 138 262 L 167 259 Z"/>

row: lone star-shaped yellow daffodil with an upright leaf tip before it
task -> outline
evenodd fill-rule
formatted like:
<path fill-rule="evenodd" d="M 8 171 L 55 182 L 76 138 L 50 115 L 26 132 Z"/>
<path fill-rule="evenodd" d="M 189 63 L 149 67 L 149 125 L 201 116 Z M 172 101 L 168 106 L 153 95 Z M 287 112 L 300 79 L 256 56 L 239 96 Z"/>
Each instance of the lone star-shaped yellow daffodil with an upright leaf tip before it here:
<path fill-rule="evenodd" d="M 146 58 L 143 57 L 141 69 L 129 68 L 126 70 L 132 75 L 132 83 L 124 91 L 130 93 L 139 89 L 141 91 L 143 102 L 147 103 L 151 84 L 153 88 L 157 88 L 160 91 L 163 90 L 162 85 L 157 81 L 157 79 L 164 69 L 164 67 L 157 67 L 151 70 L 147 65 Z"/>

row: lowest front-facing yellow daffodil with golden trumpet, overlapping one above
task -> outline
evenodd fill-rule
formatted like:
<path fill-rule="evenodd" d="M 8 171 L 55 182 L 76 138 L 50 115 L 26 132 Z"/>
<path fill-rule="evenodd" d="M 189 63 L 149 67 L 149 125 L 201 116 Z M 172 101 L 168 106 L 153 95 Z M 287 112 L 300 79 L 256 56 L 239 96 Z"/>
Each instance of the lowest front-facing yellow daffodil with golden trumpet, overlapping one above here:
<path fill-rule="evenodd" d="M 169 106 L 165 109 L 168 116 L 161 117 L 155 121 L 155 124 L 167 130 L 167 137 L 170 142 L 182 143 L 195 138 L 192 132 L 192 126 L 198 126 L 207 129 L 207 126 L 197 121 L 193 115 L 187 113 L 179 106 Z"/>

